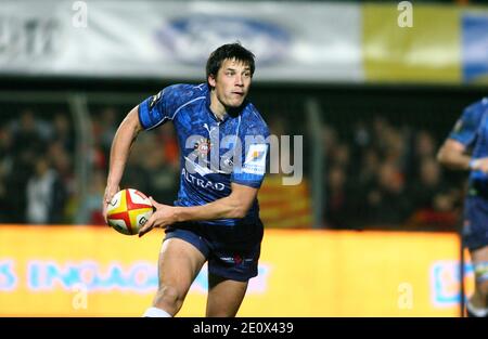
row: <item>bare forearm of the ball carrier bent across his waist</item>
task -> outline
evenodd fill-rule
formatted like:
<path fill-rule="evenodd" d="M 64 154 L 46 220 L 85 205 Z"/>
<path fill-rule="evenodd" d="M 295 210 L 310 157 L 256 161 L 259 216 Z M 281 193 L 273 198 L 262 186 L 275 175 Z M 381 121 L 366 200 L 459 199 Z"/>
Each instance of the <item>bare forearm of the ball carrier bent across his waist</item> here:
<path fill-rule="evenodd" d="M 175 219 L 177 222 L 240 219 L 246 216 L 247 209 L 232 197 L 224 197 L 203 206 L 176 207 Z"/>

